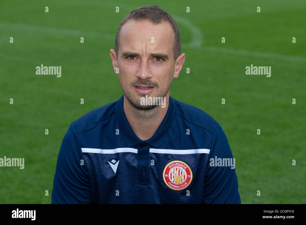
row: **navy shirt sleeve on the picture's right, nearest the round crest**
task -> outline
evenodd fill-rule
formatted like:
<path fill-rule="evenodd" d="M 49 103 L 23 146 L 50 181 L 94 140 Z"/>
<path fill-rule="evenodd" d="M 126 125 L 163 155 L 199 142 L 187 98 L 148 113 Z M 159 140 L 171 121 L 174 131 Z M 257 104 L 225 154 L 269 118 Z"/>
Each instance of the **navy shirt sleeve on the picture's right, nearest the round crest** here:
<path fill-rule="evenodd" d="M 223 159 L 225 159 L 224 162 L 228 159 L 227 162 L 232 162 L 232 164 L 216 166 L 218 161 L 220 162 L 218 158 L 221 158 L 222 162 Z M 216 159 L 217 162 L 215 162 Z M 203 195 L 204 204 L 241 204 L 234 162 L 230 144 L 219 124 L 208 155 Z"/>

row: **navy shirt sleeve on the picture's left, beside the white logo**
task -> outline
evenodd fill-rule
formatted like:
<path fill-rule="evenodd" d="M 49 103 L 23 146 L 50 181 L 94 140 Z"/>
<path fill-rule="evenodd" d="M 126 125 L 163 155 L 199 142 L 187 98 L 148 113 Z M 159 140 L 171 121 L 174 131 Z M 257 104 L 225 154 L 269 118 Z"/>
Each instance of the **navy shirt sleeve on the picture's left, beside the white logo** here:
<path fill-rule="evenodd" d="M 88 171 L 79 135 L 70 124 L 58 153 L 51 204 L 90 204 L 91 192 Z"/>

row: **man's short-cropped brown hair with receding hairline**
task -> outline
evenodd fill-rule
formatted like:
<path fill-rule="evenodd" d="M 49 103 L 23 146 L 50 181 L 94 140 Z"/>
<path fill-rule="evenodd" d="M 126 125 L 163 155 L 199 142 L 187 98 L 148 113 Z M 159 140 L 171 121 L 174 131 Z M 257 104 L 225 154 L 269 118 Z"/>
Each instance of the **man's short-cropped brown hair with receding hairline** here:
<path fill-rule="evenodd" d="M 177 59 L 177 57 L 181 53 L 180 30 L 177 26 L 177 23 L 170 16 L 170 14 L 168 14 L 166 11 L 159 8 L 159 6 L 141 6 L 137 9 L 134 9 L 126 17 L 124 17 L 124 19 L 121 21 L 121 23 L 118 26 L 118 30 L 117 30 L 116 38 L 115 38 L 115 51 L 116 51 L 117 57 L 118 57 L 118 52 L 119 52 L 119 35 L 120 35 L 121 27 L 130 19 L 133 19 L 135 21 L 141 21 L 141 20 L 148 19 L 154 24 L 160 24 L 163 21 L 169 21 L 174 30 L 174 44 L 173 44 L 174 60 Z"/>

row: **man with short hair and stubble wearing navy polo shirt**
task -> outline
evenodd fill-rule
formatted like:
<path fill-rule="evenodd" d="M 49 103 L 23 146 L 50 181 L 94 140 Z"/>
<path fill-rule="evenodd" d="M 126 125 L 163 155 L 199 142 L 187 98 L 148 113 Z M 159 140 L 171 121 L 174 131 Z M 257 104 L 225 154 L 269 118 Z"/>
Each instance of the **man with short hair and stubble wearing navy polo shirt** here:
<path fill-rule="evenodd" d="M 210 162 L 233 159 L 221 126 L 170 97 L 185 61 L 174 19 L 158 6 L 133 10 L 115 50 L 124 94 L 71 123 L 52 203 L 241 203 L 234 167 Z"/>

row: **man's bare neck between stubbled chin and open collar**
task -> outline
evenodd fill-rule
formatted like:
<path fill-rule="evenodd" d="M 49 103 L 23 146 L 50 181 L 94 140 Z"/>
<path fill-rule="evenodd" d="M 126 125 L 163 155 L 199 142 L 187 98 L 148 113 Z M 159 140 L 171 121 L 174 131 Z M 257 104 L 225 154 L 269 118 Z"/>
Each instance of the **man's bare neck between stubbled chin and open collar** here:
<path fill-rule="evenodd" d="M 131 105 L 128 99 L 123 100 L 123 109 L 125 117 L 128 120 L 132 130 L 141 140 L 145 141 L 152 137 L 159 128 L 169 107 L 170 92 L 166 94 L 165 107 L 160 105 L 151 110 L 140 110 Z"/>

